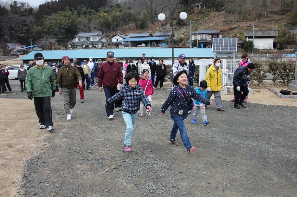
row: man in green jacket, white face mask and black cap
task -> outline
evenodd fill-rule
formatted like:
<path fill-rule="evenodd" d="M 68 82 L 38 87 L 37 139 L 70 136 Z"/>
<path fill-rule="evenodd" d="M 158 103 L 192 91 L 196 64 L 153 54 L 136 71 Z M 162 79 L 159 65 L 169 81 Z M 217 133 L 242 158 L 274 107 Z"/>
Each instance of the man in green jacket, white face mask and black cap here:
<path fill-rule="evenodd" d="M 34 106 L 39 119 L 40 129 L 47 127 L 48 131 L 54 130 L 52 121 L 52 109 L 50 107 L 50 97 L 55 96 L 56 75 L 48 66 L 44 64 L 41 53 L 34 55 L 36 66 L 28 70 L 26 78 L 26 92 L 29 99 L 34 98 Z"/>

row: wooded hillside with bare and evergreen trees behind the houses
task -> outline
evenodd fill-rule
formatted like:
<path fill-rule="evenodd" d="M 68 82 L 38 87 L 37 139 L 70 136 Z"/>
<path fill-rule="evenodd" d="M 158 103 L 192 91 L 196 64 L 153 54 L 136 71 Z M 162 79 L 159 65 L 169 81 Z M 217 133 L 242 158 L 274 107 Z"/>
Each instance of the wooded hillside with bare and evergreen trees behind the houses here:
<path fill-rule="evenodd" d="M 165 21 L 159 21 L 157 16 L 163 6 L 173 8 L 177 4 L 184 7 L 188 17 L 179 19 L 181 10 L 175 10 L 175 45 L 186 44 L 190 20 L 192 31 L 216 29 L 222 31 L 224 37 L 241 40 L 245 39 L 244 31 L 252 29 L 252 24 L 255 29 L 277 29 L 283 37 L 297 25 L 296 0 L 58 0 L 35 8 L 22 1 L 0 1 L 0 47 L 7 42 L 28 46 L 32 39 L 32 43 L 42 49 L 53 50 L 58 49 L 60 43 L 66 47 L 78 32 L 100 30 L 108 38 L 116 32 L 128 35 L 170 31 L 169 11 L 163 12 Z M 194 4 L 200 4 L 200 9 L 193 7 Z M 284 38 L 277 39 L 285 42 Z"/>

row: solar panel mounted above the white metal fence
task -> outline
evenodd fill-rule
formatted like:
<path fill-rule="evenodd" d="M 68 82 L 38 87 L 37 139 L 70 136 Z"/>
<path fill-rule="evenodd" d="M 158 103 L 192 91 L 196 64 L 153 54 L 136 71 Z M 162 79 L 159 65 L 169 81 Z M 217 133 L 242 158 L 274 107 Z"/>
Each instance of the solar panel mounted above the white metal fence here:
<path fill-rule="evenodd" d="M 212 51 L 237 51 L 237 38 L 213 38 Z"/>

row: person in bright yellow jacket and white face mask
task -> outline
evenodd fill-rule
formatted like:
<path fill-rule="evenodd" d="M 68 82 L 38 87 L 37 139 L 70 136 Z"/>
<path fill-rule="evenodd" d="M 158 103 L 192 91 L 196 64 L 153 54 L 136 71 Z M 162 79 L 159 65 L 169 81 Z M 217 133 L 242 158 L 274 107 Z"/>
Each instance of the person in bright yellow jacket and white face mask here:
<path fill-rule="evenodd" d="M 211 65 L 205 76 L 207 82 L 207 99 L 210 99 L 214 93 L 214 99 L 216 101 L 216 108 L 218 111 L 225 111 L 222 108 L 221 89 L 222 89 L 222 69 L 220 68 L 221 60 L 219 58 L 214 59 L 214 64 Z"/>

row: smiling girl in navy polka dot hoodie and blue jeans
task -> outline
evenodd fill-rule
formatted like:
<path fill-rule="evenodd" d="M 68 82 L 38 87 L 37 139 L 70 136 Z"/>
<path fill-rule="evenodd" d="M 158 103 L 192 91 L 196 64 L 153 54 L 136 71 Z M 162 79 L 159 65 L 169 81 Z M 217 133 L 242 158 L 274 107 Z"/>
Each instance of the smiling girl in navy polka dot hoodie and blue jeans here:
<path fill-rule="evenodd" d="M 191 146 L 189 137 L 187 135 L 187 130 L 184 125 L 184 119 L 188 117 L 189 111 L 189 102 L 187 100 L 193 98 L 196 101 L 199 101 L 200 103 L 204 103 L 207 105 L 212 105 L 212 101 L 205 99 L 203 96 L 198 94 L 192 86 L 186 85 L 187 82 L 187 71 L 183 70 L 175 75 L 175 77 L 173 78 L 173 83 L 176 87 L 170 91 L 168 99 L 162 105 L 161 115 L 163 116 L 165 114 L 165 111 L 171 105 L 170 116 L 171 119 L 174 121 L 174 124 L 171 129 L 169 142 L 172 143 L 173 146 L 178 146 L 178 143 L 176 142 L 175 138 L 177 131 L 179 130 L 181 134 L 181 140 L 183 141 L 184 146 L 187 148 L 188 153 L 192 155 L 196 148 L 194 146 Z M 184 96 L 178 89 L 183 90 L 183 92 L 187 96 L 187 99 L 184 98 Z"/>

